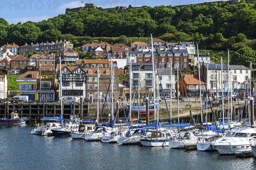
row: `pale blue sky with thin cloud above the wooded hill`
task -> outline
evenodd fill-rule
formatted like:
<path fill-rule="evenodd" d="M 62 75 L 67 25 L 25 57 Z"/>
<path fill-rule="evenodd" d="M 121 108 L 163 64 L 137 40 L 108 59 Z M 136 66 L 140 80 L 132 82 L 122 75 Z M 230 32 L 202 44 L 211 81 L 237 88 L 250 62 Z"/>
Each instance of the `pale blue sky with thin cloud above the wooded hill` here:
<path fill-rule="evenodd" d="M 0 18 L 9 24 L 38 22 L 64 14 L 66 8 L 77 8 L 85 3 L 94 3 L 102 8 L 116 6 L 160 6 L 188 5 L 204 3 L 209 0 L 0 0 Z"/>

